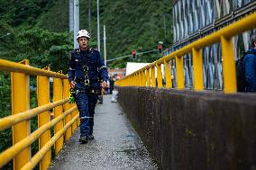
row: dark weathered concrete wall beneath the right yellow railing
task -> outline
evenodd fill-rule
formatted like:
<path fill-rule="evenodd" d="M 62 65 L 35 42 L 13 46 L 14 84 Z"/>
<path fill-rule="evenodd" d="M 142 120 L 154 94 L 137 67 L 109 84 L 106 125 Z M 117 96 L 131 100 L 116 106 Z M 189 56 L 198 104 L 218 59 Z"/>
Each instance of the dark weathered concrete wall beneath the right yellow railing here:
<path fill-rule="evenodd" d="M 256 94 L 118 87 L 160 169 L 256 169 Z"/>

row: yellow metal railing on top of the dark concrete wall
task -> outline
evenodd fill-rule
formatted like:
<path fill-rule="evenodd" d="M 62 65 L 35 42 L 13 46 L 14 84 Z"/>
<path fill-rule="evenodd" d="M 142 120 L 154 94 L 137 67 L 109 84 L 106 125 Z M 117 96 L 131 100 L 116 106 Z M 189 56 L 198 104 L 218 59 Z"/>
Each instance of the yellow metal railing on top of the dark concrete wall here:
<path fill-rule="evenodd" d="M 193 72 L 194 72 L 194 90 L 201 91 L 204 89 L 203 84 L 203 67 L 202 67 L 202 49 L 215 43 L 222 45 L 222 58 L 224 70 L 224 93 L 233 94 L 237 92 L 236 87 L 236 73 L 233 52 L 233 36 L 256 28 L 256 13 L 247 15 L 242 20 L 234 22 L 229 26 L 224 27 L 219 31 L 197 40 L 182 49 L 178 49 L 168 56 L 160 58 L 146 67 L 134 72 L 132 75 L 126 76 L 115 82 L 119 86 L 156 86 L 156 79 L 158 87 L 162 87 L 162 76 L 166 78 L 166 87 L 171 88 L 171 69 L 169 61 L 172 58 L 176 60 L 177 71 L 177 88 L 184 89 L 184 66 L 183 56 L 192 53 L 193 58 Z M 161 72 L 161 65 L 165 66 L 165 72 Z M 157 71 L 157 78 L 155 78 L 155 71 Z M 146 73 L 146 84 L 143 82 L 141 76 Z"/>

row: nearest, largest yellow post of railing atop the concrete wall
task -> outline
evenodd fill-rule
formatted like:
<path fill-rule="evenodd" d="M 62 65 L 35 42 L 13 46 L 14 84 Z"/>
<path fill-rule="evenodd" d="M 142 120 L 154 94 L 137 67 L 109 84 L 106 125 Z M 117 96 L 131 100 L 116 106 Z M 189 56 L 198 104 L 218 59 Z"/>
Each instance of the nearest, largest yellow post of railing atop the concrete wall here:
<path fill-rule="evenodd" d="M 233 39 L 226 39 L 222 36 L 221 44 L 224 67 L 224 93 L 233 94 L 237 92 Z"/>

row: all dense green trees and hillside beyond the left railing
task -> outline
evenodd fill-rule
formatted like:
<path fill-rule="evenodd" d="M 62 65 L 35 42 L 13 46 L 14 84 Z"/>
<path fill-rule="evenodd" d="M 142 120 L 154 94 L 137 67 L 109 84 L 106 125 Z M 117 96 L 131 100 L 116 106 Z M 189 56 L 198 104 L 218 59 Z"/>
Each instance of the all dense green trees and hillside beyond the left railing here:
<path fill-rule="evenodd" d="M 80 0 L 80 29 L 88 30 L 88 1 Z M 91 36 L 96 41 L 96 0 L 91 0 Z M 172 41 L 172 4 L 169 0 L 105 0 L 100 1 L 100 29 L 106 26 L 107 58 L 157 49 L 158 41 L 168 48 Z M 7 35 L 8 33 L 8 35 Z M 30 60 L 33 67 L 47 67 L 67 73 L 70 51 L 73 48 L 69 32 L 69 0 L 0 0 L 0 58 Z M 103 38 L 101 38 L 103 51 Z M 137 62 L 152 62 L 160 54 L 139 57 Z M 125 67 L 132 58 L 116 60 L 108 67 Z M 61 61 L 61 62 L 59 62 Z M 35 85 L 35 78 L 31 79 Z M 10 75 L 0 72 L 0 118 L 10 115 Z M 31 93 L 31 107 L 36 106 Z M 36 129 L 36 119 L 32 130 Z M 12 144 L 11 130 L 0 132 L 0 152 Z M 5 144 L 5 145 L 4 145 Z M 32 146 L 36 150 L 36 144 Z M 10 168 L 11 166 L 6 166 Z"/>

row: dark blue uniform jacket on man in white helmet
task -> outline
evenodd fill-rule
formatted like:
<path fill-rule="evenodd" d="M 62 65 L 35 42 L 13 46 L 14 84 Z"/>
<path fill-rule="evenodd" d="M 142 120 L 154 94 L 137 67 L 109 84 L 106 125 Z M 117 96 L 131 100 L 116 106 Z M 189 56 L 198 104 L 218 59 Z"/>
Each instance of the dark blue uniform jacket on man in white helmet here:
<path fill-rule="evenodd" d="M 71 58 L 69 59 L 69 82 L 72 80 L 76 81 L 76 88 L 85 88 L 85 85 L 82 84 L 85 80 L 84 65 L 88 67 L 87 75 L 90 87 L 99 89 L 99 82 L 101 80 L 106 82 L 108 73 L 100 53 L 94 49 L 75 49 L 72 51 Z"/>

